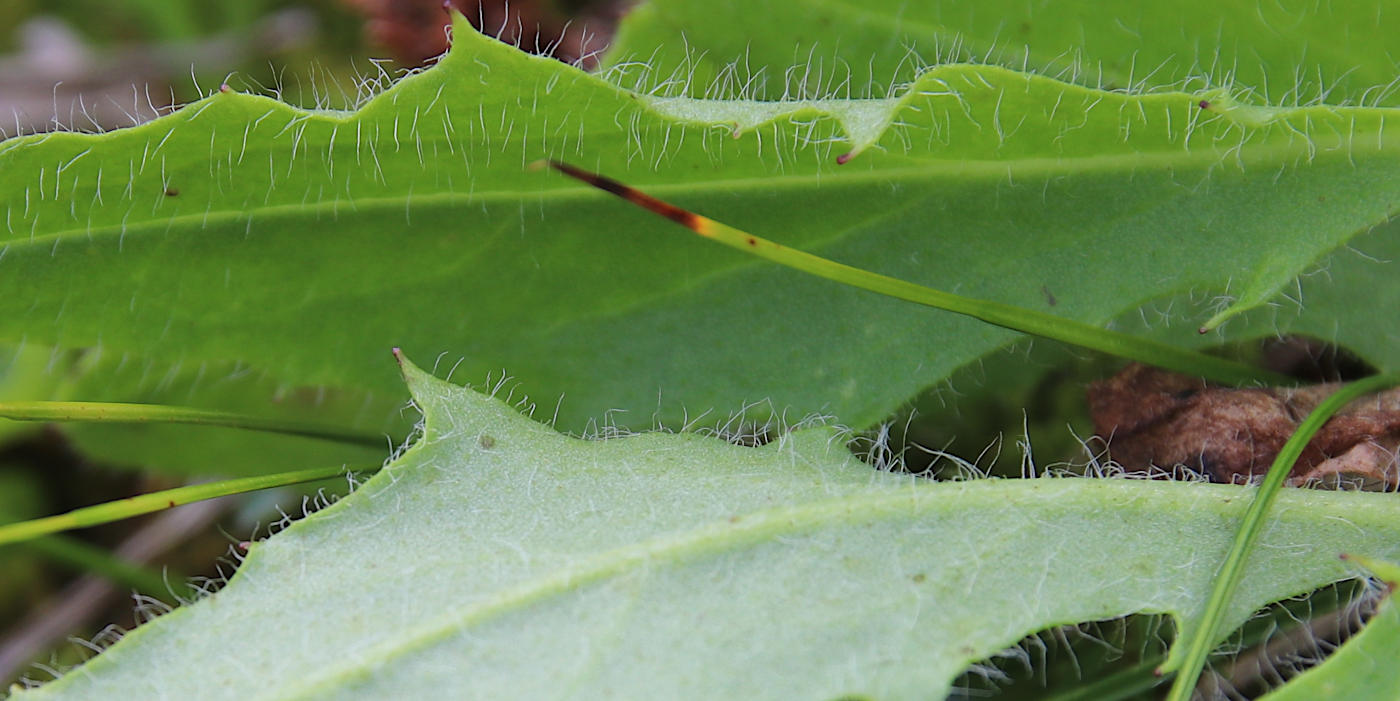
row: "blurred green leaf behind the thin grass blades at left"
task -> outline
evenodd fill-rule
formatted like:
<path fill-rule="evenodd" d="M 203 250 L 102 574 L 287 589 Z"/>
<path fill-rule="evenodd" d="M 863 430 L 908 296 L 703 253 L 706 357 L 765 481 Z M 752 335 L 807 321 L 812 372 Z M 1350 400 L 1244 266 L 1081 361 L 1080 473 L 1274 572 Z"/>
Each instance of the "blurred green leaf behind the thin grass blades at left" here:
<path fill-rule="evenodd" d="M 22 348 L 0 344 L 0 404 L 92 397 L 189 404 L 193 410 L 232 413 L 272 425 L 312 423 L 351 438 L 351 442 L 308 441 L 295 434 L 154 421 L 56 424 L 73 448 L 92 462 L 175 479 L 244 477 L 308 465 L 381 462 L 386 446 L 402 444 L 413 424 L 412 411 L 405 411 L 403 400 L 396 396 L 280 382 L 234 362 L 182 365 L 98 355 L 35 343 Z M 39 428 L 32 421 L 0 418 L 0 437 L 34 434 Z M 368 441 L 374 435 L 381 438 Z"/>

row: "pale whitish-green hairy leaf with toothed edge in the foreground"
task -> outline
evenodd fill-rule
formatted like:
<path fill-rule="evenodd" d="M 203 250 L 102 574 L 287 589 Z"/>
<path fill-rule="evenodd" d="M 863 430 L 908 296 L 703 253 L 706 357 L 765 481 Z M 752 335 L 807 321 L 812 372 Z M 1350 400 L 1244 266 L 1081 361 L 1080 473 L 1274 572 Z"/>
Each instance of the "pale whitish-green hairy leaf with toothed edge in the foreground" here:
<path fill-rule="evenodd" d="M 406 367 L 423 438 L 230 585 L 20 698 L 930 698 L 1047 625 L 1191 628 L 1249 491 L 928 483 L 837 434 L 567 438 Z M 1392 495 L 1289 491 L 1231 623 L 1400 553 Z"/>

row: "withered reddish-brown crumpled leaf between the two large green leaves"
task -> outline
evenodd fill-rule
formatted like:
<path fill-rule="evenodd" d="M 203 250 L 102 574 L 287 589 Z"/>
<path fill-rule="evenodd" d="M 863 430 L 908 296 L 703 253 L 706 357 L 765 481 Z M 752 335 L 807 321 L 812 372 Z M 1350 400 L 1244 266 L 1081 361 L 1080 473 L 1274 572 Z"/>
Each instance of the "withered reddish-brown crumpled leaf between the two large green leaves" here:
<path fill-rule="evenodd" d="M 1093 430 L 1130 470 L 1186 466 L 1212 481 L 1268 472 L 1298 424 L 1340 383 L 1232 389 L 1133 364 L 1089 386 Z M 1358 399 L 1308 444 L 1289 486 L 1396 488 L 1400 389 Z"/>

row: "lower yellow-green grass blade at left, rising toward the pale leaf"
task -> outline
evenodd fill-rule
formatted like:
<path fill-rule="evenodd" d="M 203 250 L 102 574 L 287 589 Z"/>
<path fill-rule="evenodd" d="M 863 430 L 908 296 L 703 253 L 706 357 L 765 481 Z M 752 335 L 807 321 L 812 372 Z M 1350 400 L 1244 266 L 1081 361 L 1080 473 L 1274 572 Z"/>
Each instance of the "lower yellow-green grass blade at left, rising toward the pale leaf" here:
<path fill-rule="evenodd" d="M 176 487 L 174 490 L 141 494 L 126 500 L 98 504 L 95 507 L 84 507 L 81 509 L 74 509 L 67 514 L 59 514 L 56 516 L 21 521 L 18 523 L 6 523 L 0 526 L 0 546 L 18 543 L 21 540 L 29 540 L 38 536 L 46 536 L 49 533 L 57 533 L 62 530 L 71 530 L 77 527 L 111 523 L 113 521 L 122 521 L 132 516 L 139 516 L 141 514 L 151 514 L 155 511 L 179 507 L 182 504 L 190 504 L 195 501 L 211 500 L 216 497 L 227 497 L 230 494 L 242 494 L 246 491 L 266 490 L 272 487 L 284 487 L 288 484 L 301 484 L 307 481 L 325 480 L 335 477 L 337 474 L 344 474 L 347 472 L 358 472 L 358 470 L 367 470 L 367 472 L 378 470 L 378 466 L 315 467 L 311 470 L 295 470 L 277 474 L 263 474 L 258 477 L 242 477 L 238 480 L 190 484 L 188 487 Z"/>

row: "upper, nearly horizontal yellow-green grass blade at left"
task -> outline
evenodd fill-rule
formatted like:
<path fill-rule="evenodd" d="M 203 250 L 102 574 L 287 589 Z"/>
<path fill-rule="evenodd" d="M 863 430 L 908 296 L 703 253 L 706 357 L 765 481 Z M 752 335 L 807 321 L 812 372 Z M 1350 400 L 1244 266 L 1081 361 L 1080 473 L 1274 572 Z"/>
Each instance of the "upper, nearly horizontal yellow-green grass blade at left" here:
<path fill-rule="evenodd" d="M 339 425 L 290 421 L 165 404 L 122 404 L 108 402 L 0 402 L 0 418 L 15 421 L 98 421 L 113 424 L 197 424 L 245 428 L 274 434 L 321 438 L 342 444 L 385 446 L 382 435 Z"/>

